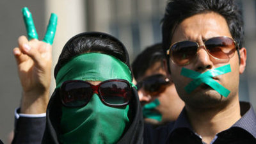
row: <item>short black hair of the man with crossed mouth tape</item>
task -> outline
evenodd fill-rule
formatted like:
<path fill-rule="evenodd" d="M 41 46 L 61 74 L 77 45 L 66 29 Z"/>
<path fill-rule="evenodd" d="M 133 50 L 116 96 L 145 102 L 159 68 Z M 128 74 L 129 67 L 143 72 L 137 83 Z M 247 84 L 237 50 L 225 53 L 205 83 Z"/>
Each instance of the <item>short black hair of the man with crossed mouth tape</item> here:
<path fill-rule="evenodd" d="M 234 0 L 170 0 L 162 19 L 163 51 L 168 61 L 168 67 L 169 58 L 166 50 L 171 45 L 175 28 L 188 17 L 208 12 L 215 12 L 223 16 L 227 20 L 232 38 L 239 45 L 239 49 L 243 47 L 243 19 L 241 10 Z"/>

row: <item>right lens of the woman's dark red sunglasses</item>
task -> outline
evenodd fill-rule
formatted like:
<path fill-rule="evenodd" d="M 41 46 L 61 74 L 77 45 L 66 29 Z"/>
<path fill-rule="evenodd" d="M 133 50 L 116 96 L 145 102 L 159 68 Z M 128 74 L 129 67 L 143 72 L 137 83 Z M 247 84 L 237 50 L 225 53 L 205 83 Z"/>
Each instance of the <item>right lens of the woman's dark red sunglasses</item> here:
<path fill-rule="evenodd" d="M 124 81 L 108 81 L 100 84 L 100 95 L 108 104 L 124 106 L 131 99 L 131 87 Z"/>

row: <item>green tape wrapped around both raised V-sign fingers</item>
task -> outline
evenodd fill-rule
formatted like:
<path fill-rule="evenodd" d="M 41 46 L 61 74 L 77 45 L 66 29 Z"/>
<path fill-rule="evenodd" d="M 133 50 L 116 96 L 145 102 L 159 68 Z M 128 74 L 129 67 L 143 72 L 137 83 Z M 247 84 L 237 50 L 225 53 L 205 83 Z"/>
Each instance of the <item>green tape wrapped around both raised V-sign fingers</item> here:
<path fill-rule="evenodd" d="M 38 35 L 36 33 L 36 28 L 33 22 L 31 12 L 29 12 L 27 7 L 24 7 L 22 8 L 22 14 L 23 14 L 23 19 L 24 19 L 25 26 L 28 33 L 28 40 L 38 39 Z M 56 33 L 57 21 L 58 21 L 58 16 L 55 13 L 51 13 L 51 17 L 49 20 L 49 24 L 47 26 L 47 31 L 45 33 L 43 42 L 46 42 L 52 45 L 54 36 Z"/>

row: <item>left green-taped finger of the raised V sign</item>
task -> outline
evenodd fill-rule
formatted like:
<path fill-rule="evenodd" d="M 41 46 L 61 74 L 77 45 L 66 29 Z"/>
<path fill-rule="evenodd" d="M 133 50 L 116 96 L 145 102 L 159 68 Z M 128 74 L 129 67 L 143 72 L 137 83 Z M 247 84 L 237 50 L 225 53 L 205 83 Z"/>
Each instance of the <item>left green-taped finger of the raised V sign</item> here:
<path fill-rule="evenodd" d="M 25 22 L 25 26 L 28 33 L 28 40 L 33 38 L 38 39 L 38 35 L 36 33 L 35 24 L 33 22 L 32 14 L 29 12 L 27 7 L 22 8 L 23 19 Z"/>

